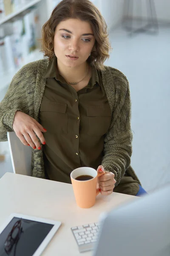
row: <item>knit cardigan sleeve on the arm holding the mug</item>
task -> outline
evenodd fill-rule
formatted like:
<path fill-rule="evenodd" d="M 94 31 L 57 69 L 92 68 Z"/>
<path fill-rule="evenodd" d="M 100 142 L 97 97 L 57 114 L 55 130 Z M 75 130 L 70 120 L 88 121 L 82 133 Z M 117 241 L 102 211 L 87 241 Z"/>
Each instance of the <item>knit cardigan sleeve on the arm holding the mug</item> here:
<path fill-rule="evenodd" d="M 105 135 L 102 165 L 113 172 L 117 186 L 130 166 L 132 154 L 132 133 L 130 128 L 131 102 L 129 84 L 125 76 L 113 78 L 115 91 L 112 92 L 114 105 L 110 128 Z"/>

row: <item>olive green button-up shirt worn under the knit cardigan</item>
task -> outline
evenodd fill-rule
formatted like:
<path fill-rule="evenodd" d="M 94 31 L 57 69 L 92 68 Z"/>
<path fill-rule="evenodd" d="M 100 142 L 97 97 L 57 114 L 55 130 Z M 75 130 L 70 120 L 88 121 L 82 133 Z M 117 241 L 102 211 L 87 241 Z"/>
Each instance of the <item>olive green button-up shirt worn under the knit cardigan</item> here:
<path fill-rule="evenodd" d="M 50 180 L 71 183 L 73 169 L 97 169 L 101 164 L 111 110 L 95 66 L 88 85 L 78 92 L 59 75 L 56 57 L 51 59 L 44 78 L 47 81 L 39 121 L 47 129 L 43 134 L 45 175 Z"/>

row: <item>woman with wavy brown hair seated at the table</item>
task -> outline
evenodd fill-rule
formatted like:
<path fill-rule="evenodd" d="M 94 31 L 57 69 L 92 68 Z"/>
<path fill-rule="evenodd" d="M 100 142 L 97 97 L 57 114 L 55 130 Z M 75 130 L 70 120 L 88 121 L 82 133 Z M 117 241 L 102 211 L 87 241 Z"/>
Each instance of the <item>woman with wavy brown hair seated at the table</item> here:
<path fill-rule="evenodd" d="M 89 0 L 63 0 L 42 29 L 45 58 L 14 76 L 0 103 L 0 140 L 15 131 L 33 148 L 32 175 L 71 183 L 80 166 L 98 172 L 102 195 L 136 195 L 126 77 L 103 65 L 107 25 Z"/>

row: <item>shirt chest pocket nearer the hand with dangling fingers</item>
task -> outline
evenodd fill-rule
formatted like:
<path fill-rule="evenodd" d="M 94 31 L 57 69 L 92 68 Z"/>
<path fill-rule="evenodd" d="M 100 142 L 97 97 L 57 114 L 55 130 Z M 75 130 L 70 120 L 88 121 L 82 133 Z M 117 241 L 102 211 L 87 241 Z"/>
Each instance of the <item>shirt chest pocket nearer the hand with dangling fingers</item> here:
<path fill-rule="evenodd" d="M 40 107 L 40 120 L 47 131 L 67 133 L 67 104 L 44 101 Z"/>

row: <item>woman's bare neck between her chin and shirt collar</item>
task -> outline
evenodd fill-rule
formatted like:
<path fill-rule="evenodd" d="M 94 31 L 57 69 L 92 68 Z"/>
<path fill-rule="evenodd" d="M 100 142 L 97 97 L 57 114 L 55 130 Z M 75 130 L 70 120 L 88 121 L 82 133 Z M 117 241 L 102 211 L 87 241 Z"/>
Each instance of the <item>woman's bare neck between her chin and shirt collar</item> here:
<path fill-rule="evenodd" d="M 85 62 L 78 67 L 65 67 L 57 60 L 59 74 L 68 82 L 78 82 L 87 74 L 88 63 Z"/>

